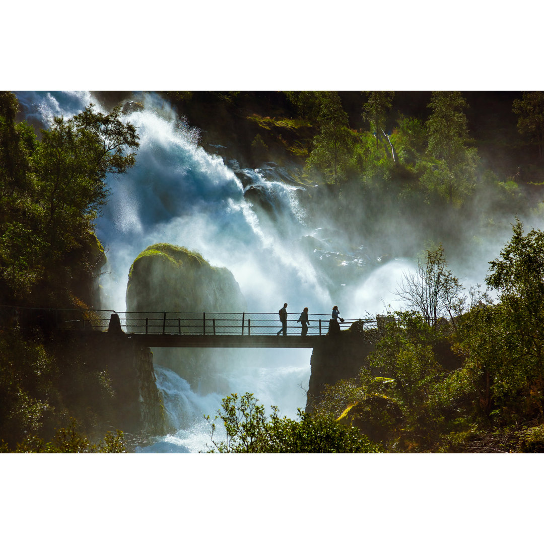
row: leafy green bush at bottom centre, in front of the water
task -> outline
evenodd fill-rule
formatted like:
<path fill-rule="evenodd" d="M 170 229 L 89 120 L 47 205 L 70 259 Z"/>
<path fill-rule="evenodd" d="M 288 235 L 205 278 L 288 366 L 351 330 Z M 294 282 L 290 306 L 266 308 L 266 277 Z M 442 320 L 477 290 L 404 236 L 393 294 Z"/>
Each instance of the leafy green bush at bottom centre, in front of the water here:
<path fill-rule="evenodd" d="M 299 421 L 280 418 L 276 406 L 271 416 L 265 415 L 263 405 L 251 393 L 238 397 L 236 393 L 222 401 L 211 424 L 214 448 L 208 453 L 379 453 L 380 448 L 361 435 L 357 429 L 345 426 L 329 416 L 311 416 L 299 409 Z M 215 421 L 221 418 L 226 440 L 214 440 Z"/>

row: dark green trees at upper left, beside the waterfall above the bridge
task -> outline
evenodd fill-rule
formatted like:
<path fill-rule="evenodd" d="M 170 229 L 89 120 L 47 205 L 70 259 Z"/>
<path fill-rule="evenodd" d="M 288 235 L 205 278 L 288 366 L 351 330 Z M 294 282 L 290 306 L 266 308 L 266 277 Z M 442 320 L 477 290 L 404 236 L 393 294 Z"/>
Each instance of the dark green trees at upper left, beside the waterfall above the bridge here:
<path fill-rule="evenodd" d="M 108 196 L 105 178 L 134 164 L 138 135 L 90 104 L 71 119 L 55 118 L 38 141 L 16 123 L 17 101 L 0 94 L 0 294 L 32 305 L 70 305 L 89 298 L 103 264 L 92 234 Z M 47 300 L 51 296 L 52 300 Z"/>

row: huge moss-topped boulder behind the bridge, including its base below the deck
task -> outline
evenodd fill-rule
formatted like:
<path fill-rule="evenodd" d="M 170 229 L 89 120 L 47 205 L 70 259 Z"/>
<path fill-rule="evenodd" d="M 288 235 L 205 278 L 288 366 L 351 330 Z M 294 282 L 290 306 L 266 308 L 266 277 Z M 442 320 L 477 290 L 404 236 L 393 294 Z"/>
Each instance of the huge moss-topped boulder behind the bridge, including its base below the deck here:
<path fill-rule="evenodd" d="M 154 244 L 132 264 L 126 293 L 127 312 L 228 312 L 247 310 L 230 270 L 212 267 L 201 255 L 170 244 Z M 153 312 L 153 314 L 152 314 Z M 238 350 L 155 348 L 153 362 L 174 370 L 200 393 L 230 393 L 227 367 Z"/>

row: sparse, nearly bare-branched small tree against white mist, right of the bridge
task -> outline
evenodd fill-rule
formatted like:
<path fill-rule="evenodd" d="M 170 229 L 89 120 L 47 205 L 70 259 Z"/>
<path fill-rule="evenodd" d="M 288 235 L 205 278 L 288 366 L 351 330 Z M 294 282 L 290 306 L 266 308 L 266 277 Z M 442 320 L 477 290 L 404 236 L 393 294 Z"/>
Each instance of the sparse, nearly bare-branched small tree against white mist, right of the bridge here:
<path fill-rule="evenodd" d="M 418 257 L 413 273 L 405 272 L 399 289 L 395 292 L 408 307 L 422 313 L 425 322 L 437 327 L 441 313 L 454 318 L 462 306 L 463 287 L 448 269 L 442 244 L 435 250 L 425 250 L 425 257 Z"/>

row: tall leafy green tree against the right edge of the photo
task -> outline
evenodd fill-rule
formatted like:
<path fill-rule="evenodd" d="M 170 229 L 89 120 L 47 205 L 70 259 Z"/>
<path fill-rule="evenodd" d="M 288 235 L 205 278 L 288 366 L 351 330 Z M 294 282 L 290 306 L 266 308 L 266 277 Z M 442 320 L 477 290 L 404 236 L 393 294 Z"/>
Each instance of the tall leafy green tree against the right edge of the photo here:
<path fill-rule="evenodd" d="M 544 233 L 523 236 L 519 219 L 514 232 L 490 263 L 487 284 L 499 293 L 496 306 L 475 307 L 461 320 L 461 349 L 477 375 L 480 405 L 543 411 Z"/>

